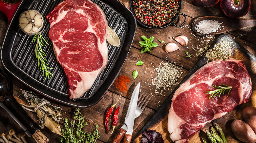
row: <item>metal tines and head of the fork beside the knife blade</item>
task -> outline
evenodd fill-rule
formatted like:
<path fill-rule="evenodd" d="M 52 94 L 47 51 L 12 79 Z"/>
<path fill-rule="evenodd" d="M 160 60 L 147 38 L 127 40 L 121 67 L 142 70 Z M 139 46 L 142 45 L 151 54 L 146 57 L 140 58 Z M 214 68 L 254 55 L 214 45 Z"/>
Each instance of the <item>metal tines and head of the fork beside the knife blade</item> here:
<path fill-rule="evenodd" d="M 135 118 L 139 117 L 139 115 L 142 113 L 148 102 L 150 101 L 152 95 L 145 93 L 145 91 L 139 95 L 138 98 L 138 103 L 136 107 L 136 112 L 135 112 Z"/>

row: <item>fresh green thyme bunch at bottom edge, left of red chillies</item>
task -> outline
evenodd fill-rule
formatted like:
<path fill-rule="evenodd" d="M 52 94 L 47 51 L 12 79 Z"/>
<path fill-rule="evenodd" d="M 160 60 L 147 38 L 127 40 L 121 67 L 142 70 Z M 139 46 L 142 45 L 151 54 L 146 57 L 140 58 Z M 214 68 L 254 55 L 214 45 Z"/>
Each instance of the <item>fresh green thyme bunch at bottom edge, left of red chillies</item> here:
<path fill-rule="evenodd" d="M 84 116 L 77 108 L 73 116 L 73 120 L 65 118 L 65 128 L 61 130 L 63 135 L 60 138 L 61 143 L 96 143 L 97 138 L 99 138 L 98 125 L 94 125 L 95 130 L 93 130 L 92 134 L 84 132 L 82 129 L 85 125 L 88 125 L 87 122 L 84 121 Z"/>

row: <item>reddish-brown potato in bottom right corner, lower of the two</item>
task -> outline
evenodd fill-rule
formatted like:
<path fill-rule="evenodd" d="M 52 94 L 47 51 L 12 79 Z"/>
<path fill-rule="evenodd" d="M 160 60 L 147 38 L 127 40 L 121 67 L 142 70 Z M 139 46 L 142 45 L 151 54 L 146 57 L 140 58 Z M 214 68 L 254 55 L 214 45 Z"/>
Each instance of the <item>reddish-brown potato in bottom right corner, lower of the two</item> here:
<path fill-rule="evenodd" d="M 234 120 L 231 123 L 231 130 L 233 134 L 242 142 L 256 142 L 256 135 L 253 132 L 252 128 L 242 120 Z"/>

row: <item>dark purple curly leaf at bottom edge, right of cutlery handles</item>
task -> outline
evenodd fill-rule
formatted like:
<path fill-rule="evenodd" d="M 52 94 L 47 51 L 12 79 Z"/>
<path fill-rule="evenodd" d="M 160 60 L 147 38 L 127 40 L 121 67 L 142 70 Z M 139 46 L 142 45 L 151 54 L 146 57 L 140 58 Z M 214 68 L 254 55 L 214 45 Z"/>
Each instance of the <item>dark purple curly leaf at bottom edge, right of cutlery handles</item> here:
<path fill-rule="evenodd" d="M 156 130 L 144 130 L 141 136 L 142 143 L 164 143 L 163 137 Z"/>

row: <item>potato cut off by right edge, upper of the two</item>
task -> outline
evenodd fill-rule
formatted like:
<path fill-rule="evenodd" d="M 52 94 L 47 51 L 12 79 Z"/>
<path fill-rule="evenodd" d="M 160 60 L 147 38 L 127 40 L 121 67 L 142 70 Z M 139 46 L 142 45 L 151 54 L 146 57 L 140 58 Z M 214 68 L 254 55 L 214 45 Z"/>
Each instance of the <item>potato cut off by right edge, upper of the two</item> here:
<path fill-rule="evenodd" d="M 252 106 L 246 107 L 244 110 L 242 110 L 242 118 L 256 134 L 256 108 Z"/>

